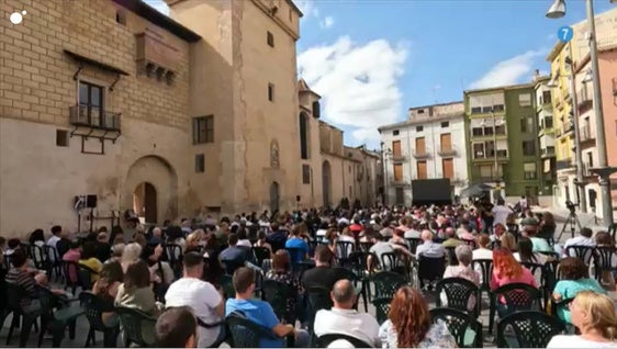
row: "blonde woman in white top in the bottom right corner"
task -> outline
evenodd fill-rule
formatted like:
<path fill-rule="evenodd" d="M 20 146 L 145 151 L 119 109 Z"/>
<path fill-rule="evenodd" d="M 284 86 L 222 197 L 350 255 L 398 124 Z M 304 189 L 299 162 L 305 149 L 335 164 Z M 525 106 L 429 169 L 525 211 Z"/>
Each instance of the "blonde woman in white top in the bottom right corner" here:
<path fill-rule="evenodd" d="M 570 305 L 572 324 L 581 335 L 552 337 L 547 348 L 617 348 L 615 302 L 604 294 L 582 291 Z"/>

